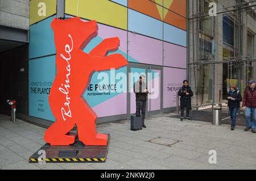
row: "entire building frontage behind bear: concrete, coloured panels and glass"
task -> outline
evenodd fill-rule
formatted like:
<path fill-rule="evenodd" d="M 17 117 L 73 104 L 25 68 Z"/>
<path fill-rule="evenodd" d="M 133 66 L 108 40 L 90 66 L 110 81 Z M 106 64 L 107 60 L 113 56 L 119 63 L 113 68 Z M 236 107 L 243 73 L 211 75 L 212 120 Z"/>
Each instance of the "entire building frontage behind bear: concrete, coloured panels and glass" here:
<path fill-rule="evenodd" d="M 16 99 L 18 117 L 35 124 L 55 121 L 48 104 L 56 75 L 53 18 L 97 21 L 98 35 L 85 53 L 119 37 L 119 49 L 109 54 L 120 53 L 129 64 L 95 72 L 83 95 L 98 123 L 129 119 L 135 112 L 132 86 L 141 74 L 152 90 L 147 115 L 175 110 L 186 78 L 195 92 L 193 109 L 223 103 L 229 85 L 243 92 L 255 79 L 255 0 L 0 0 L 0 5 L 5 32 L 0 112 L 9 114 L 5 100 Z"/>

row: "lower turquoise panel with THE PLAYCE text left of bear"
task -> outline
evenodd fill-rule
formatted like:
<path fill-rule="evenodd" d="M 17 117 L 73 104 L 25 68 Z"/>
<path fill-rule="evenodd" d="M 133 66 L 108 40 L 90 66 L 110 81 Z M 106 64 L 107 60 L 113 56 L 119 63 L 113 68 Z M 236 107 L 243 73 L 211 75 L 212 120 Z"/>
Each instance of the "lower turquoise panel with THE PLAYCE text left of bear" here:
<path fill-rule="evenodd" d="M 29 115 L 55 121 L 48 103 L 56 74 L 55 56 L 29 60 Z"/>

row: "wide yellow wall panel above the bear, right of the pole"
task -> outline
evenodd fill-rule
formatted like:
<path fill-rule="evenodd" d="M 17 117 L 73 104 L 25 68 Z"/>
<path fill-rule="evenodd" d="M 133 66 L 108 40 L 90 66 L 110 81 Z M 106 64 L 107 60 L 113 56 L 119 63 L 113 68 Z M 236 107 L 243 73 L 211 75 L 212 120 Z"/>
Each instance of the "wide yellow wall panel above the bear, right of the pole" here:
<path fill-rule="evenodd" d="M 66 0 L 65 13 L 127 30 L 127 8 L 108 0 Z"/>

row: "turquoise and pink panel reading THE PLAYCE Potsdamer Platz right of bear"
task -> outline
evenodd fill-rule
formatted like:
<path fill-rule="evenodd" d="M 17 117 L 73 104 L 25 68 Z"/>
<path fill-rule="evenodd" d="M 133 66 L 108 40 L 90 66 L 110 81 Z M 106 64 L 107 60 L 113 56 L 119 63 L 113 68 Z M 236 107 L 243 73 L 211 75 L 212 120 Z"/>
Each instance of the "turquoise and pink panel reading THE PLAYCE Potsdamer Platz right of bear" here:
<path fill-rule="evenodd" d="M 90 87 L 85 91 L 84 98 L 98 117 L 122 115 L 127 112 L 127 81 L 123 79 L 126 75 L 127 67 L 113 72 L 109 70 L 93 74 Z M 115 87 L 115 90 L 103 92 L 104 86 Z"/>

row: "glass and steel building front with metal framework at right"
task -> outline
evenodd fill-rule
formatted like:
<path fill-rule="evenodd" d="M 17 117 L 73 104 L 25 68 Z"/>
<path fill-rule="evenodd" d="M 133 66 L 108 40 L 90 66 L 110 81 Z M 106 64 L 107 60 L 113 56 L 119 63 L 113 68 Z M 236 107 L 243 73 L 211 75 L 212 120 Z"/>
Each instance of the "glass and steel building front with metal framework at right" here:
<path fill-rule="evenodd" d="M 189 79 L 193 108 L 223 103 L 229 86 L 256 76 L 256 1 L 189 1 Z M 212 15 L 216 8 L 216 13 Z"/>

